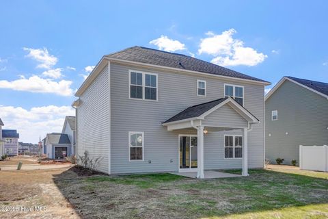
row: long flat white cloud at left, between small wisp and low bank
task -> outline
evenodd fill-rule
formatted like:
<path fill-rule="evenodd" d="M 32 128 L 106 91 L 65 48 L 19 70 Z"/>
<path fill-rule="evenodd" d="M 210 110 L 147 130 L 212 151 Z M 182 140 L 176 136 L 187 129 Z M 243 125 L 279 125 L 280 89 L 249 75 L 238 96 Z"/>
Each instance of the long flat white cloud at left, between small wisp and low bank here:
<path fill-rule="evenodd" d="M 25 78 L 23 75 L 20 79 L 14 81 L 0 81 L 0 88 L 8 88 L 12 90 L 37 92 L 37 93 L 53 93 L 61 96 L 72 95 L 72 81 L 53 81 L 52 79 L 43 79 L 36 75 Z"/>

